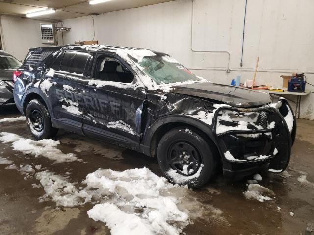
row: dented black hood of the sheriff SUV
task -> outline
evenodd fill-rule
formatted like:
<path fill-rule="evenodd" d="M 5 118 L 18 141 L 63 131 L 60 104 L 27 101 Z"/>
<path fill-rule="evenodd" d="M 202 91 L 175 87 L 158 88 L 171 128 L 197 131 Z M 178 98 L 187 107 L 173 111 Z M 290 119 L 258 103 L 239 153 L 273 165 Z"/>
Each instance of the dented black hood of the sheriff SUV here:
<path fill-rule="evenodd" d="M 173 93 L 221 101 L 233 107 L 252 108 L 271 102 L 269 94 L 211 82 L 173 86 Z"/>

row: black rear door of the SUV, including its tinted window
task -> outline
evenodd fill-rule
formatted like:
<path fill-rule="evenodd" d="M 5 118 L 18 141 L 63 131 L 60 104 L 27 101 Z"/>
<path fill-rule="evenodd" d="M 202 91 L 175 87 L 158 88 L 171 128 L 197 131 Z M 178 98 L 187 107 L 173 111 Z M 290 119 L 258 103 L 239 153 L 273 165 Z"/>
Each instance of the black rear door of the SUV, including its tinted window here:
<path fill-rule="evenodd" d="M 92 53 L 65 51 L 46 74 L 47 84 L 53 84 L 46 94 L 50 96 L 53 121 L 57 127 L 82 134 L 83 97 L 89 94 L 87 78 L 92 60 Z"/>

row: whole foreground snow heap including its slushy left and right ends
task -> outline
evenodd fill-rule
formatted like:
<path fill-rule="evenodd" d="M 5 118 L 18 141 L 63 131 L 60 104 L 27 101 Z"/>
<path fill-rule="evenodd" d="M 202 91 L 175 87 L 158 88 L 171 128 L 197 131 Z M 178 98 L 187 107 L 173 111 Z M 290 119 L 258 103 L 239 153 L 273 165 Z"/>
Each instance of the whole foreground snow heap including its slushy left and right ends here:
<path fill-rule="evenodd" d="M 98 169 L 78 184 L 84 188 L 49 171 L 36 173 L 36 178 L 46 192 L 41 201 L 51 198 L 57 205 L 69 207 L 97 203 L 88 216 L 104 222 L 112 235 L 179 235 L 189 223 L 190 211 L 197 213 L 194 218 L 204 213 L 204 205 L 196 200 L 183 203 L 192 200 L 186 197 L 187 187 L 172 185 L 147 168 L 123 172 Z M 206 209 L 212 221 L 228 224 L 222 211 Z"/>

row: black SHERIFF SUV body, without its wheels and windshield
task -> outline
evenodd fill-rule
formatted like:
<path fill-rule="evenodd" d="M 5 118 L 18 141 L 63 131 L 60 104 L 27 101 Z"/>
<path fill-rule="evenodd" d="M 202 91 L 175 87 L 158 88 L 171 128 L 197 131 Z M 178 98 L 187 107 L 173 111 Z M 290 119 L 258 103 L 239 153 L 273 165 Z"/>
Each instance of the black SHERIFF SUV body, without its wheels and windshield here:
<path fill-rule="evenodd" d="M 31 98 L 42 99 L 53 127 L 109 141 L 152 157 L 157 154 L 159 139 L 171 128 L 183 126 L 186 130 L 198 130 L 216 146 L 227 177 L 240 178 L 261 167 L 271 168 L 273 172 L 282 172 L 287 167 L 296 121 L 285 99 L 273 104 L 263 92 L 209 82 L 163 84 L 152 89 L 145 85 L 144 72 L 136 63 L 120 56 L 118 52 L 123 49 L 134 48 L 68 45 L 30 49 L 19 69 L 23 74 L 15 83 L 17 107 L 24 114 Z M 86 54 L 85 69 L 79 73 L 63 71 L 62 58 L 66 52 Z M 28 62 L 29 58 L 37 57 L 42 59 Z M 121 73 L 128 71 L 124 75 L 133 76 L 133 81 L 101 84 L 96 74 L 103 57 L 106 61 L 109 58 L 119 62 Z M 47 74 L 50 68 L 55 68 L 52 76 Z M 122 78 L 125 79 L 124 76 L 119 79 Z M 47 82 L 50 88 L 42 89 L 42 84 Z M 75 103 L 74 113 L 67 111 L 71 102 Z M 206 118 L 200 114 L 206 114 Z M 252 120 L 241 129 L 241 118 Z M 227 152 L 234 158 L 226 157 Z"/>

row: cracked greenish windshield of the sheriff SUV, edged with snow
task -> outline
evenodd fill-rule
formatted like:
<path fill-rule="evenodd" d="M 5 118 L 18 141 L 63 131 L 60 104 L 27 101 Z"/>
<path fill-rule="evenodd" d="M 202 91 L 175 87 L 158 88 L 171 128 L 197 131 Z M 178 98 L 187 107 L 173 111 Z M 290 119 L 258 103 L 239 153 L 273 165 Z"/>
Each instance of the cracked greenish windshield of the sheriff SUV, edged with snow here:
<path fill-rule="evenodd" d="M 191 71 L 168 55 L 145 56 L 139 63 L 142 71 L 157 84 L 201 81 Z"/>

